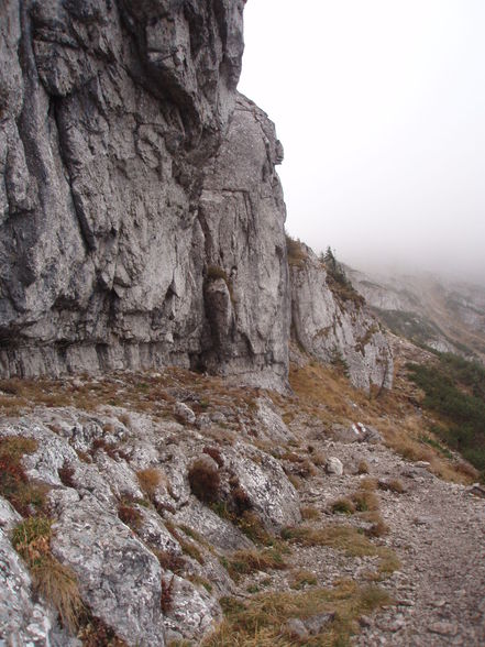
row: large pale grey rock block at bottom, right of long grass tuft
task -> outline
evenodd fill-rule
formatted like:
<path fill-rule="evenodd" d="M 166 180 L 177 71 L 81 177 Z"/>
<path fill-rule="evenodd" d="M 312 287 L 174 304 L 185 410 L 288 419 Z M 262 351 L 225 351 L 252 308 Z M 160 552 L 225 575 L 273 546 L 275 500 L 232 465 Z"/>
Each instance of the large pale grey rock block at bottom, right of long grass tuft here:
<path fill-rule="evenodd" d="M 130 645 L 164 645 L 155 556 L 95 497 L 52 496 L 57 513 L 53 553 L 74 570 L 96 615 Z"/>

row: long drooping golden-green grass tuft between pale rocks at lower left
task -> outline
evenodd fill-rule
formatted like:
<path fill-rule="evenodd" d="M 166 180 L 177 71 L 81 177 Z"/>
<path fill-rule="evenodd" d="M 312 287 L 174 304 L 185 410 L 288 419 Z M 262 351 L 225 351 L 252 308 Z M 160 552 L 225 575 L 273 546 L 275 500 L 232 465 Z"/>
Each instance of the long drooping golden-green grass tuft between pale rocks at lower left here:
<path fill-rule="evenodd" d="M 37 595 L 47 600 L 62 623 L 75 632 L 85 611 L 74 572 L 51 553 L 51 519 L 30 517 L 12 534 L 12 545 L 26 562 Z"/>

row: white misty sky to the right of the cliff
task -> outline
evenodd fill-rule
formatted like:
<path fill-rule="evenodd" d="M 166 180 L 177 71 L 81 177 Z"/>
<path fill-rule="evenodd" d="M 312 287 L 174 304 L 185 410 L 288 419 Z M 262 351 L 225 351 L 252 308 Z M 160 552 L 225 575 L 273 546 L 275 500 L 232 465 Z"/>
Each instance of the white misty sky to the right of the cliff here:
<path fill-rule="evenodd" d="M 287 229 L 354 265 L 485 281 L 485 0 L 249 0 L 239 89 L 276 122 Z"/>

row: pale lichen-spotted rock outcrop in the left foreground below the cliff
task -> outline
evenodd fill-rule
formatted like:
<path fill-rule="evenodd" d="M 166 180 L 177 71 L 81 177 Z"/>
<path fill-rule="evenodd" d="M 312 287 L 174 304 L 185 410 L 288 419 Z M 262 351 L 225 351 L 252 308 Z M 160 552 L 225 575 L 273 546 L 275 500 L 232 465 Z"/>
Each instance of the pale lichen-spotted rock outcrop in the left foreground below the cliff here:
<path fill-rule="evenodd" d="M 227 410 L 228 417 L 235 415 Z M 129 427 L 117 423 L 119 418 Z M 254 425 L 262 434 L 266 430 L 261 421 Z M 244 509 L 267 530 L 301 518 L 299 496 L 279 462 L 243 440 L 212 447 L 216 461 L 206 453 L 211 449 L 198 429 L 135 412 L 128 420 L 119 407 L 93 414 L 44 408 L 15 423 L 2 420 L 0 439 L 19 436 L 37 443 L 22 458 L 22 467 L 30 480 L 48 490 L 54 557 L 76 574 L 92 615 L 130 646 L 162 646 L 165 633 L 199 640 L 222 617 L 219 596 L 234 593 L 222 557 L 254 549 L 236 524 L 191 493 L 188 471 L 195 460 L 219 473 L 218 501 L 235 515 L 231 496 L 236 485 Z M 141 487 L 144 470 L 159 478 L 150 492 Z M 20 515 L 1 502 L 0 574 L 12 594 L 0 594 L 0 639 L 12 630 L 5 619 L 10 613 L 22 639 L 35 629 L 44 632 L 38 645 L 56 645 L 49 643 L 60 632 L 55 614 L 43 601 L 33 601 L 29 573 L 8 538 L 19 522 Z M 210 583 L 210 592 L 203 582 Z M 168 596 L 164 610 L 163 595 Z M 69 644 L 68 636 L 62 640 Z"/>

